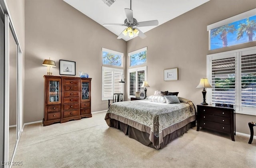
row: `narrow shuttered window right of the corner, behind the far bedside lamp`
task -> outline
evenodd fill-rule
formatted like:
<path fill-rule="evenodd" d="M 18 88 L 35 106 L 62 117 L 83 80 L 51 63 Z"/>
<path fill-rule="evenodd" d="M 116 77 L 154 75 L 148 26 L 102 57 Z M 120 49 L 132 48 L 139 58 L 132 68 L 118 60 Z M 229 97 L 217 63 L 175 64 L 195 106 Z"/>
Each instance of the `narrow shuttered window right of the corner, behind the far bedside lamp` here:
<path fill-rule="evenodd" d="M 137 91 L 140 91 L 140 97 L 144 97 L 144 88 L 142 88 L 141 85 L 143 81 L 147 80 L 147 67 L 129 69 L 128 73 L 128 98 L 135 97 Z"/>

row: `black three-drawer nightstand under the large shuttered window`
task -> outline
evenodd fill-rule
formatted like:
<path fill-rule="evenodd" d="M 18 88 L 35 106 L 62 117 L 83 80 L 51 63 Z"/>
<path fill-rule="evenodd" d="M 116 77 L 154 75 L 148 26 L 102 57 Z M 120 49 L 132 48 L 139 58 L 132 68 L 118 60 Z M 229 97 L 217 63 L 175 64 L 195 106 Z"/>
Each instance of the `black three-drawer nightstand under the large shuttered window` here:
<path fill-rule="evenodd" d="M 233 108 L 214 105 L 197 105 L 197 131 L 200 127 L 228 132 L 235 141 L 236 114 Z"/>

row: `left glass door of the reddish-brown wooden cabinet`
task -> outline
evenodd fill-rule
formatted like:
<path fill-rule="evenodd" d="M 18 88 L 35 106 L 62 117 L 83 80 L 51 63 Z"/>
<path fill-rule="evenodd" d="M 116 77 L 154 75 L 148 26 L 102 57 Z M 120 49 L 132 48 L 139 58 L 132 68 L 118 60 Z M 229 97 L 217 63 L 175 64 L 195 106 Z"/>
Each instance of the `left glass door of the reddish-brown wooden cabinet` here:
<path fill-rule="evenodd" d="M 49 80 L 49 103 L 60 102 L 60 81 Z"/>

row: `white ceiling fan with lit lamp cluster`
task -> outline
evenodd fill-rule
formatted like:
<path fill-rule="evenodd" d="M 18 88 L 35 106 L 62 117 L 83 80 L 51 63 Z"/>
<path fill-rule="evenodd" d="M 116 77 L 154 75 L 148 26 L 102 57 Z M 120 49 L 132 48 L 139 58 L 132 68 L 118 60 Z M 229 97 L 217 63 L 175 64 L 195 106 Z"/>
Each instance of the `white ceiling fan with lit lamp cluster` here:
<path fill-rule="evenodd" d="M 103 24 L 103 26 L 126 26 L 122 33 L 117 37 L 118 39 L 123 38 L 124 36 L 129 36 L 133 38 L 134 35 L 138 35 L 140 38 L 146 38 L 146 35 L 138 29 L 138 27 L 144 26 L 157 26 L 158 20 L 149 20 L 144 22 L 137 22 L 137 20 L 133 17 L 132 12 L 132 0 L 130 0 L 130 9 L 125 8 L 124 12 L 126 14 L 126 19 L 124 20 L 124 24 Z"/>

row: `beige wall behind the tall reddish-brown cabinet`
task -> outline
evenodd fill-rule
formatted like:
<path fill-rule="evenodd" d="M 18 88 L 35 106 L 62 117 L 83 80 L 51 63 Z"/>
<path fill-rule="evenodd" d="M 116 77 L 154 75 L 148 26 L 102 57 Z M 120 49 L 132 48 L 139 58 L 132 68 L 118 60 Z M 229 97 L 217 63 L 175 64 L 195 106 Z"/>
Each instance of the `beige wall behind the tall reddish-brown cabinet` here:
<path fill-rule="evenodd" d="M 44 59 L 76 61 L 92 78 L 92 112 L 106 110 L 101 101 L 102 47 L 126 53 L 126 42 L 62 0 L 25 0 L 25 123 L 44 117 Z M 125 65 L 125 59 L 124 59 Z"/>

